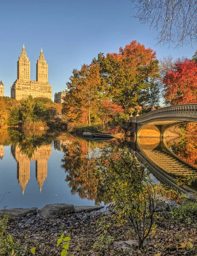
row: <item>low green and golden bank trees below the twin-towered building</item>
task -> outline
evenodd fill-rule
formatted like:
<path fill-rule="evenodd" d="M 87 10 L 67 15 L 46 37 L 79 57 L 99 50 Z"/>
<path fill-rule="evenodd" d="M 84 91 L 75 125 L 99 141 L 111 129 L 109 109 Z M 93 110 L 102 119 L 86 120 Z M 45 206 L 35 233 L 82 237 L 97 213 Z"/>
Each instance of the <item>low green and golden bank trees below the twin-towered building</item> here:
<path fill-rule="evenodd" d="M 0 97 L 0 126 L 18 128 L 23 132 L 66 129 L 62 121 L 62 106 L 46 98 L 29 96 L 21 101 Z"/>

